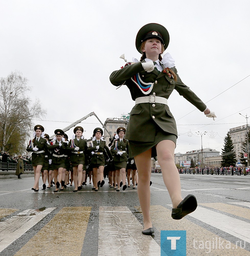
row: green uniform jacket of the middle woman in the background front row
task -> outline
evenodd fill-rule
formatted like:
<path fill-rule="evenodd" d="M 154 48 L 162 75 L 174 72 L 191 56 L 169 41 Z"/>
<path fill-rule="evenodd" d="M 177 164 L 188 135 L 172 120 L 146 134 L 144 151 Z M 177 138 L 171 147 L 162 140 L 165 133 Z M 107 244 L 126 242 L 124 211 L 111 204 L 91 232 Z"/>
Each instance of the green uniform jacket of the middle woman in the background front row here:
<path fill-rule="evenodd" d="M 71 146 L 71 143 L 72 143 L 72 140 L 71 139 L 68 143 L 68 147 L 67 147 L 67 151 L 70 151 L 70 157 L 69 157 L 69 161 L 71 163 L 73 162 L 78 162 L 78 161 L 85 161 L 85 155 L 87 155 L 87 150 L 88 150 L 88 145 L 87 145 L 87 141 L 80 138 L 79 139 L 79 142 L 77 141 L 77 138 L 74 139 L 74 144 L 76 147 L 79 147 L 79 152 L 80 151 L 83 151 L 83 153 L 80 153 L 80 154 L 74 154 L 72 153 L 73 151 L 74 152 L 77 152 L 75 151 L 75 147 L 70 147 Z M 87 158 L 86 158 L 87 159 Z M 87 162 L 85 161 L 85 164 L 87 165 Z"/>

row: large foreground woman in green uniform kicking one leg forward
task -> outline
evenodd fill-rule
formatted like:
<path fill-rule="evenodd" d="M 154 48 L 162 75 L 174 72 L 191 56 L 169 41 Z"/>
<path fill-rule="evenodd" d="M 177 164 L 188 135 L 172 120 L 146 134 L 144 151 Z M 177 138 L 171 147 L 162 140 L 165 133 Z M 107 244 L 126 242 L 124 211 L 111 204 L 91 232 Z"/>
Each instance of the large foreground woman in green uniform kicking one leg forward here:
<path fill-rule="evenodd" d="M 184 200 L 181 196 L 180 175 L 174 163 L 177 129 L 168 106 L 170 94 L 175 89 L 206 116 L 216 117 L 181 81 L 172 57 L 167 54 L 162 59 L 161 54 L 168 44 L 169 33 L 165 27 L 156 23 L 143 26 L 136 36 L 136 49 L 142 54 L 140 61 L 126 65 L 110 76 L 113 85 L 126 84 L 135 100 L 126 138 L 129 140 L 129 157 L 134 157 L 138 171 L 137 190 L 144 222 L 142 233 L 145 235 L 154 233 L 150 219 L 149 187 L 152 156 L 157 155 L 162 169 L 173 204 L 172 218 L 181 219 L 197 207 L 195 196 L 188 195 Z"/>

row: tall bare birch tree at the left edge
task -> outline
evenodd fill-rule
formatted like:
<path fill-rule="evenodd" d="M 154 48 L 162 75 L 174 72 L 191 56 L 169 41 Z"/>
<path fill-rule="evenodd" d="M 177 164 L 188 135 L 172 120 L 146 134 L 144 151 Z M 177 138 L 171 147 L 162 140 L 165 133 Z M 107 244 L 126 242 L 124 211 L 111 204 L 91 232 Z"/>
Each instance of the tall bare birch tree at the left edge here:
<path fill-rule="evenodd" d="M 1 150 L 10 150 L 11 136 L 22 135 L 22 140 L 32 129 L 32 119 L 41 118 L 46 111 L 42 109 L 39 99 L 34 102 L 27 96 L 31 88 L 28 80 L 18 71 L 11 72 L 6 78 L 0 78 L 0 146 Z M 16 143 L 21 143 L 21 138 Z M 16 145 L 17 146 L 17 145 Z M 19 148 L 16 147 L 15 148 Z"/>

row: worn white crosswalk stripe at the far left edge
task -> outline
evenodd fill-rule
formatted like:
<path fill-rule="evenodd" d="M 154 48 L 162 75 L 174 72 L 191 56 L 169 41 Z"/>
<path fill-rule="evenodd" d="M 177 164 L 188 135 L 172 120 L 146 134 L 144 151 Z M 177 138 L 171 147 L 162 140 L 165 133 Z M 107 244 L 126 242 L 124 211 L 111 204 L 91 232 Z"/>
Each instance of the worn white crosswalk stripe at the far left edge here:
<path fill-rule="evenodd" d="M 55 208 L 48 208 L 42 212 L 35 210 L 23 211 L 0 223 L 0 252 L 8 247 L 12 242 L 22 236 L 32 228 L 47 214 Z"/>

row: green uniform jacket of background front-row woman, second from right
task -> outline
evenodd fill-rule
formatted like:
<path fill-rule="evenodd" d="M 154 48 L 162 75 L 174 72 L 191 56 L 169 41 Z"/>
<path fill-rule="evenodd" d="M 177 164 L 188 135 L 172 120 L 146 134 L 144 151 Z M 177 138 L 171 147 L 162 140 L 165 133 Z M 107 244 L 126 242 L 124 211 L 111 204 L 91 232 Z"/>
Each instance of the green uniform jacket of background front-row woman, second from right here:
<path fill-rule="evenodd" d="M 92 152 L 94 151 L 95 153 L 97 152 L 102 152 L 103 154 L 98 155 L 98 154 L 93 154 L 91 157 L 91 164 L 101 164 L 101 163 L 105 163 L 105 152 L 108 154 L 110 160 L 113 159 L 113 156 L 109 150 L 109 148 L 107 147 L 105 141 L 100 140 L 99 142 L 99 149 L 98 151 L 96 150 L 96 146 L 97 146 L 97 140 L 91 141 L 90 142 L 90 146 L 88 148 L 88 152 Z"/>

